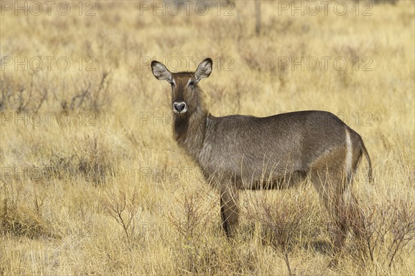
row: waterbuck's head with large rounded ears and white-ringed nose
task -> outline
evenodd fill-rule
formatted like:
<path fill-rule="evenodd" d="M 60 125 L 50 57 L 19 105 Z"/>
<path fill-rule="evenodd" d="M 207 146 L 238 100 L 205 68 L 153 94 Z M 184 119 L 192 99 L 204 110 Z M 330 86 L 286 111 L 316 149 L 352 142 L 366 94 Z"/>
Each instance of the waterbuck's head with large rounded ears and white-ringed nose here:
<path fill-rule="evenodd" d="M 176 72 L 167 70 L 163 63 L 151 62 L 154 77 L 165 80 L 172 86 L 172 108 L 176 115 L 192 114 L 201 105 L 201 95 L 197 83 L 212 72 L 212 59 L 204 59 L 195 72 Z"/>

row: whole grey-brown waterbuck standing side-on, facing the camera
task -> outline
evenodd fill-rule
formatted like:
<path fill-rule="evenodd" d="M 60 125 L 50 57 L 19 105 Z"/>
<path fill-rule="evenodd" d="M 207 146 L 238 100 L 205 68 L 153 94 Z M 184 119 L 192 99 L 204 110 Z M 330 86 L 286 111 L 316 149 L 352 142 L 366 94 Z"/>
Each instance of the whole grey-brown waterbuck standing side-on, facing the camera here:
<path fill-rule="evenodd" d="M 151 69 L 172 86 L 174 138 L 200 166 L 206 181 L 220 190 L 228 236 L 238 223 L 239 190 L 285 188 L 308 177 L 337 226 L 334 244 L 342 246 L 348 228 L 342 208 L 356 210 L 350 186 L 362 154 L 371 178 L 369 155 L 358 133 L 324 111 L 264 118 L 210 115 L 198 83 L 209 77 L 212 59 L 202 61 L 196 72 L 172 73 L 158 61 Z"/>

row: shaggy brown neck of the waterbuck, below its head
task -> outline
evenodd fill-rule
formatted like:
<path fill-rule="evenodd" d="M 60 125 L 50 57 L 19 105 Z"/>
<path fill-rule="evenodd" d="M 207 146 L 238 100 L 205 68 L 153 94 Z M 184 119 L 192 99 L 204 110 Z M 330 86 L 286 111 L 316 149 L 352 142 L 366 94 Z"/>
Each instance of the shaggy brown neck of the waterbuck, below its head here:
<path fill-rule="evenodd" d="M 174 139 L 195 161 L 205 139 L 208 112 L 201 107 L 186 115 L 174 115 Z"/>

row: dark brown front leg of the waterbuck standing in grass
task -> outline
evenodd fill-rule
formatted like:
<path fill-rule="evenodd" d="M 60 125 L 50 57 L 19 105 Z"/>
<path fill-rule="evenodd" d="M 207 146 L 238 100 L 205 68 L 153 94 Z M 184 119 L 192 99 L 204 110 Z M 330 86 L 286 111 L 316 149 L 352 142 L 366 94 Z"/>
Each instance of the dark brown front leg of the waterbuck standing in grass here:
<path fill-rule="evenodd" d="M 227 237 L 232 237 L 232 231 L 238 225 L 238 188 L 233 183 L 221 184 L 221 219 L 222 227 Z"/>

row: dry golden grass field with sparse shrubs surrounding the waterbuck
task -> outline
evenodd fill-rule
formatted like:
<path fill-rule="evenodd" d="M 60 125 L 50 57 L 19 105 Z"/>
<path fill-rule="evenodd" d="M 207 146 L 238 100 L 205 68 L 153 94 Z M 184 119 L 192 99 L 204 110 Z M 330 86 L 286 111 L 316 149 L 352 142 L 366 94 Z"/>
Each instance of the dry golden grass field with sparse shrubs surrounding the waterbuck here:
<path fill-rule="evenodd" d="M 253 1 L 190 2 L 174 15 L 154 1 L 0 1 L 0 275 L 288 275 L 286 259 L 293 275 L 414 275 L 414 2 L 345 1 L 342 14 L 329 1 L 313 16 L 316 2 L 261 1 L 259 34 Z M 204 57 L 213 115 L 328 110 L 362 135 L 375 181 L 362 162 L 353 190 L 370 248 L 350 234 L 329 266 L 309 184 L 243 192 L 226 239 L 219 193 L 175 144 L 170 88 L 149 66 Z"/>

